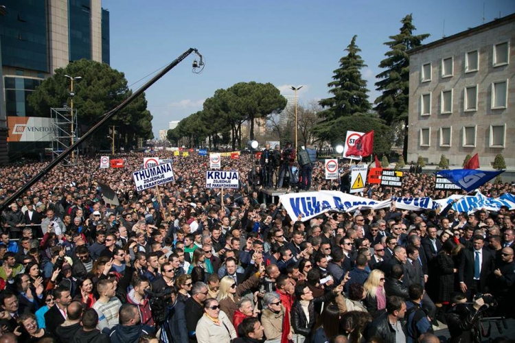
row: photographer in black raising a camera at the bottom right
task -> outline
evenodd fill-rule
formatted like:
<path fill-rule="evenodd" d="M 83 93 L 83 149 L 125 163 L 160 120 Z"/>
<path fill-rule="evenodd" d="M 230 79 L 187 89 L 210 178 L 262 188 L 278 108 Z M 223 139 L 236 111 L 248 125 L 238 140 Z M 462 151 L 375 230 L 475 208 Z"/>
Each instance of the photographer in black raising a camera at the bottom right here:
<path fill-rule="evenodd" d="M 483 311 L 494 303 L 490 294 L 476 296 L 473 303 L 467 303 L 465 294 L 457 294 L 451 299 L 453 307 L 446 314 L 447 326 L 450 333 L 450 343 L 481 342 L 480 320 Z M 472 305 L 472 307 L 470 306 Z"/>

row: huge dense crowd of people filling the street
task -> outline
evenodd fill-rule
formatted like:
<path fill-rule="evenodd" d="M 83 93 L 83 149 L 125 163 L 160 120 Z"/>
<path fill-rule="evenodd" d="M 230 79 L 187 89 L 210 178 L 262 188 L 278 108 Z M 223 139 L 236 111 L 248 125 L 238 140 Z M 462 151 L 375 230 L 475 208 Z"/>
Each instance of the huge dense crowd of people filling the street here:
<path fill-rule="evenodd" d="M 0 343 L 439 342 L 442 324 L 450 342 L 479 342 L 482 318 L 515 316 L 514 209 L 292 218 L 266 189 L 345 190 L 348 171 L 325 180 L 309 147 L 301 165 L 268 149 L 222 158 L 239 189 L 206 189 L 195 152 L 155 152 L 175 181 L 143 191 L 132 174 L 148 154 L 49 171 L 1 213 Z M 268 165 L 273 150 L 284 161 Z M 43 167 L 0 169 L 1 201 Z M 445 198 L 434 182 L 405 172 L 402 187 L 361 195 Z"/>

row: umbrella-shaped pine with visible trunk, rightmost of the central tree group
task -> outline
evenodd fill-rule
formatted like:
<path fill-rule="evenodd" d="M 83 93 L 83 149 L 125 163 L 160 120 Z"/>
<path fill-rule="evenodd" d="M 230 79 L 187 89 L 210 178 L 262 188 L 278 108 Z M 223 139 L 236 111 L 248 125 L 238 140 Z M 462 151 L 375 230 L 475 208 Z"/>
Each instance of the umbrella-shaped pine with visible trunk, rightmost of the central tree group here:
<path fill-rule="evenodd" d="M 286 98 L 270 82 L 239 82 L 227 91 L 235 95 L 231 110 L 240 117 L 245 117 L 251 124 L 250 139 L 254 139 L 254 119 L 264 118 L 273 112 L 280 112 L 286 107 Z"/>

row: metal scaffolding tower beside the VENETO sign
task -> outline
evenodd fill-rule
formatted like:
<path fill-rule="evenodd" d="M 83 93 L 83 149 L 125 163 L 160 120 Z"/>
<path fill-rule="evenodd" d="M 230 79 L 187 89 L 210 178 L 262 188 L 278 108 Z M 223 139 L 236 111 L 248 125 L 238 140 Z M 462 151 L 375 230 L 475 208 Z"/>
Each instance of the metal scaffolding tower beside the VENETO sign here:
<path fill-rule="evenodd" d="M 62 152 L 68 149 L 73 142 L 78 141 L 77 134 L 77 110 L 69 107 L 50 108 L 50 117 L 54 128 L 52 138 L 52 161 Z M 74 150 L 75 154 L 69 154 L 63 161 L 64 165 L 76 165 L 79 151 Z"/>

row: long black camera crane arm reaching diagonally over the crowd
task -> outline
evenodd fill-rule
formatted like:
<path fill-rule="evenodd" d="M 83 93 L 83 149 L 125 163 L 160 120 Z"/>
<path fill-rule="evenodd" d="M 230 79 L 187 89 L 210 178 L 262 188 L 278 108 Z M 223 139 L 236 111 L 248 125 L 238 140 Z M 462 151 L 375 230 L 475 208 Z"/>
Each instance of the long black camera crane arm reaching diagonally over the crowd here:
<path fill-rule="evenodd" d="M 27 191 L 27 189 L 30 189 L 30 187 L 32 185 L 34 185 L 34 183 L 38 182 L 38 180 L 41 180 L 41 178 L 43 178 L 43 176 L 45 176 L 49 171 L 54 169 L 54 167 L 56 165 L 58 165 L 58 163 L 60 163 L 60 161 L 62 161 L 66 156 L 68 156 L 73 150 L 75 150 L 79 145 L 81 145 L 86 139 L 91 137 L 91 135 L 93 133 L 98 131 L 104 125 L 104 123 L 106 123 L 106 121 L 113 118 L 116 113 L 118 113 L 120 110 L 123 110 L 128 104 L 130 104 L 130 102 L 133 102 L 133 100 L 135 98 L 139 97 L 139 95 L 141 95 L 141 93 L 146 91 L 150 86 L 152 86 L 152 84 L 155 84 L 155 82 L 157 82 L 157 80 L 162 78 L 166 73 L 168 73 L 168 71 L 172 70 L 177 64 L 182 62 L 182 60 L 187 58 L 187 56 L 189 56 L 193 52 L 195 54 L 197 54 L 198 57 L 200 58 L 200 63 L 197 63 L 195 60 L 193 67 L 197 68 L 197 67 L 199 67 L 199 65 L 203 66 L 203 64 L 204 64 L 203 57 L 201 54 L 198 53 L 197 49 L 190 47 L 190 49 L 187 49 L 186 51 L 184 51 L 181 56 L 179 56 L 178 58 L 173 60 L 162 71 L 157 73 L 157 75 L 155 75 L 152 79 L 148 80 L 148 82 L 146 84 L 141 86 L 137 91 L 135 91 L 132 95 L 130 95 L 130 97 L 125 99 L 121 104 L 119 104 L 112 110 L 105 113 L 102 116 L 103 117 L 102 120 L 100 120 L 98 123 L 96 123 L 95 126 L 93 126 L 93 128 L 91 128 L 88 132 L 86 132 L 84 134 L 84 136 L 82 136 L 78 141 L 76 141 L 75 143 L 70 145 L 67 148 L 67 150 L 62 152 L 59 156 L 57 156 L 57 158 L 54 161 L 50 162 L 46 167 L 44 167 L 38 174 L 36 174 L 36 176 L 34 176 L 29 182 L 27 182 L 25 185 L 23 185 L 23 187 L 21 187 L 21 189 L 14 192 L 14 194 L 12 194 L 12 196 L 7 198 L 2 204 L 0 204 L 0 213 L 2 213 L 9 204 L 14 202 L 14 200 L 16 200 L 16 198 L 18 198 L 19 196 L 21 196 L 21 194 L 23 194 L 25 191 Z"/>

